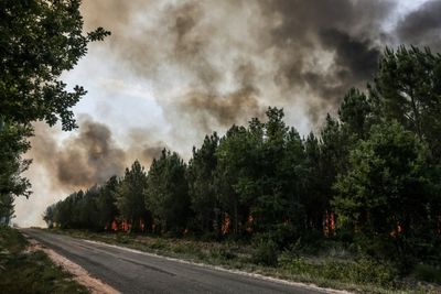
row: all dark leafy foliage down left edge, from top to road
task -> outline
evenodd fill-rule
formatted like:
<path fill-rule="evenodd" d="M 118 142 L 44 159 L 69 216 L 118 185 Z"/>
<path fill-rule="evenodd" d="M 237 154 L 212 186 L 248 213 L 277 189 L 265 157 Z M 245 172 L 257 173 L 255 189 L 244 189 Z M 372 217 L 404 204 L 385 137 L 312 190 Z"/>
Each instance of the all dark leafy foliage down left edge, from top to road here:
<path fill-rule="evenodd" d="M 103 28 L 83 35 L 80 0 L 4 0 L 0 2 L 0 220 L 9 222 L 13 198 L 29 197 L 21 174 L 30 160 L 31 122 L 63 130 L 76 128 L 74 107 L 86 94 L 66 89 L 61 75 L 87 53 L 87 44 L 110 33 Z"/>

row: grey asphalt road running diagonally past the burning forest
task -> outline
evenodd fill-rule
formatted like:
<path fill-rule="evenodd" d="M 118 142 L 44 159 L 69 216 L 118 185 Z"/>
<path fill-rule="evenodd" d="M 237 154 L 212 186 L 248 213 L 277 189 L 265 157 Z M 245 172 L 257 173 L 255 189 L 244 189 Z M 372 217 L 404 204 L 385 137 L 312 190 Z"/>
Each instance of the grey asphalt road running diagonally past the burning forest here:
<path fill-rule="evenodd" d="M 121 293 L 323 293 L 42 230 L 22 231 Z"/>

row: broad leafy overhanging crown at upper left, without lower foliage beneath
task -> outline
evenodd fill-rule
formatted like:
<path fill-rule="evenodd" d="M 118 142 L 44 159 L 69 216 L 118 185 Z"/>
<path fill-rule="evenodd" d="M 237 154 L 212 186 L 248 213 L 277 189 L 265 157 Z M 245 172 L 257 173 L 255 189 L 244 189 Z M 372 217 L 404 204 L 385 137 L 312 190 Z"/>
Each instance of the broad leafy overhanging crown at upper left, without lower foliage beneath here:
<path fill-rule="evenodd" d="M 87 53 L 87 44 L 109 32 L 97 29 L 83 35 L 79 0 L 13 1 L 0 3 L 0 118 L 20 124 L 61 120 L 75 128 L 71 108 L 86 94 L 67 91 L 60 77 Z"/>

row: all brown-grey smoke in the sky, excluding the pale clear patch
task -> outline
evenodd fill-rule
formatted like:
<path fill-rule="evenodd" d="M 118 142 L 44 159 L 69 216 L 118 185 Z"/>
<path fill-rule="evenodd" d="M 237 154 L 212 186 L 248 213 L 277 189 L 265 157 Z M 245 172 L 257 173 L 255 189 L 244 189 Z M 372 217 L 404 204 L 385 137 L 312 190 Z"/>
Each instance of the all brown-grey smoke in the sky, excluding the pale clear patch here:
<path fill-rule="evenodd" d="M 105 57 L 152 85 L 172 126 L 169 135 L 180 142 L 263 118 L 268 106 L 297 109 L 310 129 L 318 128 L 345 91 L 373 79 L 385 46 L 439 50 L 441 1 L 423 3 L 390 26 L 399 4 L 85 0 L 82 13 L 86 30 L 111 31 L 98 44 Z M 37 135 L 33 152 L 60 185 L 85 186 L 121 173 L 128 159 L 151 161 L 166 145 L 157 131 L 128 130 L 122 148 L 110 127 L 86 119 L 63 145 L 49 132 Z"/>

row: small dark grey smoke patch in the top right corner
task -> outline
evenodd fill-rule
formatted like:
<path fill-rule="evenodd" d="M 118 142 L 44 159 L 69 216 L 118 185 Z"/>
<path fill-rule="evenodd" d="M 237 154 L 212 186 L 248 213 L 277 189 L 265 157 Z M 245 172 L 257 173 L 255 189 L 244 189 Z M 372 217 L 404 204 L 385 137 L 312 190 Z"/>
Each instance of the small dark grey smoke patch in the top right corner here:
<path fill-rule="evenodd" d="M 397 25 L 401 42 L 441 50 L 441 1 L 432 0 L 406 15 Z"/>

